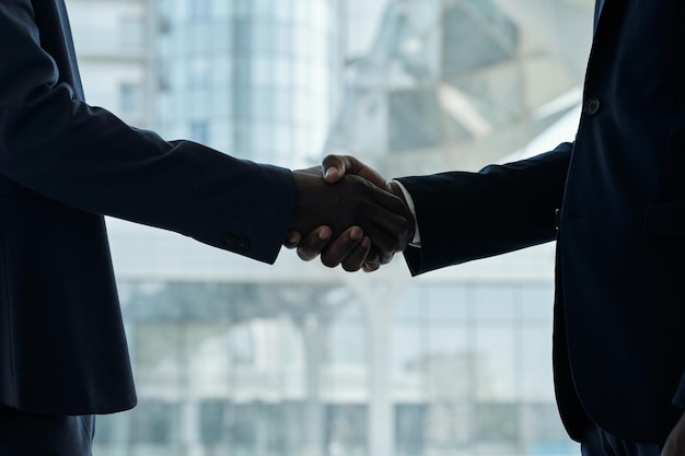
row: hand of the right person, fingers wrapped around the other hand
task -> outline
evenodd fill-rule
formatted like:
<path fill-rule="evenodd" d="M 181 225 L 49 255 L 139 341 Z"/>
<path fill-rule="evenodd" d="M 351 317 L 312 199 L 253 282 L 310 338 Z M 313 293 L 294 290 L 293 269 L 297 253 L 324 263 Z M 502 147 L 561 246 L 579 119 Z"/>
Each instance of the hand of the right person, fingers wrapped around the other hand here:
<path fill-rule="evenodd" d="M 328 155 L 323 161 L 324 179 L 329 184 L 335 184 L 340 180 L 345 175 L 357 175 L 369 180 L 371 184 L 380 189 L 388 192 L 393 192 L 398 197 L 403 203 L 404 195 L 398 187 L 387 183 L 376 171 L 361 163 L 359 160 L 349 155 Z M 405 209 L 407 212 L 408 209 Z M 411 220 L 411 226 L 409 227 L 409 239 L 414 237 L 414 218 L 408 215 Z M 323 229 L 323 227 L 322 227 Z M 345 232 L 338 238 L 332 241 L 332 236 L 326 238 L 321 237 L 321 231 L 315 231 L 307 234 L 304 238 L 300 233 L 290 233 L 289 237 L 292 241 L 286 245 L 289 248 L 298 248 L 298 255 L 302 259 L 311 260 L 321 255 L 322 262 L 328 267 L 335 267 L 341 265 L 345 270 L 356 271 L 363 269 L 365 272 L 374 271 L 390 260 L 387 256 L 383 256 L 374 245 L 368 248 L 367 244 L 361 242 L 356 243 L 357 237 L 350 237 L 351 233 Z M 324 232 L 325 234 L 328 234 Z M 362 239 L 365 239 L 363 237 Z M 403 244 L 403 250 L 406 244 Z M 391 256 L 392 257 L 392 256 Z M 363 260 L 360 261 L 360 259 Z"/>

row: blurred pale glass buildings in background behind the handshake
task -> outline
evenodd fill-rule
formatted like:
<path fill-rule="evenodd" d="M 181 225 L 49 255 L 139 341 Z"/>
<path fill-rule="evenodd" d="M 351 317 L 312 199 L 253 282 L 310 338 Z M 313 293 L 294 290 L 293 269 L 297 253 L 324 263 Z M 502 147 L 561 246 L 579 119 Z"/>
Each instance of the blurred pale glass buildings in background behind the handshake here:
<path fill-rule="evenodd" d="M 593 8 L 67 3 L 90 104 L 243 159 L 345 152 L 387 177 L 572 140 Z M 140 404 L 100 417 L 98 456 L 579 454 L 554 400 L 552 245 L 411 279 L 402 257 L 271 267 L 107 223 Z"/>

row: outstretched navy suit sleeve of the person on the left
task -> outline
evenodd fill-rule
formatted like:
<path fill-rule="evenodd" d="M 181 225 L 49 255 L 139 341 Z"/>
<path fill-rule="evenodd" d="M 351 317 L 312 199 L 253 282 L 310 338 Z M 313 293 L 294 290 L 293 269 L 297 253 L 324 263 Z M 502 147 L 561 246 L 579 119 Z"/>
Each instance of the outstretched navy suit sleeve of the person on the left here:
<path fill-rule="evenodd" d="M 0 3 L 0 174 L 82 211 L 276 259 L 294 199 L 290 171 L 165 141 L 89 106 L 42 32 L 30 0 Z"/>

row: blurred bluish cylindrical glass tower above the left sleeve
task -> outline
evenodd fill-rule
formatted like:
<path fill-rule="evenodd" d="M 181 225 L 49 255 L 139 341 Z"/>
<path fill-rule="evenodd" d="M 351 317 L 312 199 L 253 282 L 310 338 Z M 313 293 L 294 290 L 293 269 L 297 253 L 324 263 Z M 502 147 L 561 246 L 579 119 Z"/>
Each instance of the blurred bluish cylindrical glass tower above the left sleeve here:
<path fill-rule="evenodd" d="M 339 9 L 158 1 L 158 128 L 260 162 L 315 160 L 339 104 Z"/>

